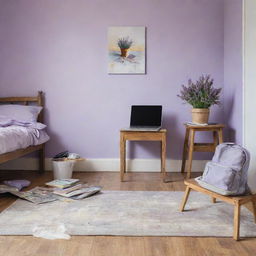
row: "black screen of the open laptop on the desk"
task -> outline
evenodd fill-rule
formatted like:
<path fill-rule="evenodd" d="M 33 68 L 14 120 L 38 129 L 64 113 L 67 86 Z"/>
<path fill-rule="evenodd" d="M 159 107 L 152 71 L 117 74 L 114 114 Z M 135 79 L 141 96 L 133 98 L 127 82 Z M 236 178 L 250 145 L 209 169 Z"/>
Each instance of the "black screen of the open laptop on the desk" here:
<path fill-rule="evenodd" d="M 130 126 L 161 126 L 162 106 L 132 106 Z"/>

